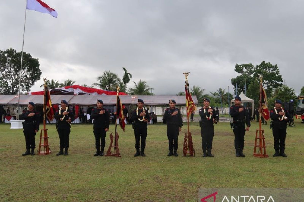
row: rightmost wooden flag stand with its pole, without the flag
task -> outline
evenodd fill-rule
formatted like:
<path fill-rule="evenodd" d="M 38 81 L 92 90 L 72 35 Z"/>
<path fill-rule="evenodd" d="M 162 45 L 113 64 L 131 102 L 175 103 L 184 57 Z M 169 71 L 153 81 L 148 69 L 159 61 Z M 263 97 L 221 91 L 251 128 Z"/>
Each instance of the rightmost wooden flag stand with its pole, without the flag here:
<path fill-rule="evenodd" d="M 264 136 L 264 129 L 262 129 L 262 91 L 263 91 L 263 87 L 262 87 L 262 83 L 263 83 L 263 76 L 260 75 L 260 121 L 259 121 L 259 125 L 260 128 L 256 130 L 255 133 L 255 142 L 254 142 L 254 152 L 253 152 L 253 156 L 255 157 L 261 157 L 261 158 L 266 158 L 268 157 L 268 154 L 266 153 L 266 145 L 265 145 L 265 136 Z M 259 133 L 259 136 L 257 136 L 257 134 Z M 259 140 L 259 145 L 257 145 L 257 140 Z M 259 148 L 257 150 L 257 148 Z"/>

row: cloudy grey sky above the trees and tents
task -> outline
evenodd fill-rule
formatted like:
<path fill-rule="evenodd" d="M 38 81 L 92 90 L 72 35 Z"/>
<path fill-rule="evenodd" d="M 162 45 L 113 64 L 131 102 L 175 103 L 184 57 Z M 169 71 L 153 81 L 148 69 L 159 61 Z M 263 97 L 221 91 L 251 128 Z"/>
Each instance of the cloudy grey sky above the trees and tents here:
<path fill-rule="evenodd" d="M 303 86 L 303 1 L 44 0 L 58 13 L 27 10 L 24 51 L 42 78 L 96 82 L 103 71 L 132 75 L 157 95 L 190 86 L 233 88 L 236 63 L 278 64 L 296 94 Z M 22 49 L 26 0 L 0 1 L 0 49 Z M 301 82 L 302 80 L 302 82 Z"/>

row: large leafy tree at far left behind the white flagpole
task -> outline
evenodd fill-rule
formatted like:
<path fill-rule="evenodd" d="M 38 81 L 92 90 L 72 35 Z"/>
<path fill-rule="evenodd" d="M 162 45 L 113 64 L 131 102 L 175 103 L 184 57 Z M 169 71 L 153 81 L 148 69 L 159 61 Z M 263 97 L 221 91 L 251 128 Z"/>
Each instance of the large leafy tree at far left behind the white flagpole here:
<path fill-rule="evenodd" d="M 21 52 L 10 48 L 0 51 L 0 93 L 18 94 Z M 29 91 L 40 79 L 38 59 L 23 52 L 20 90 Z"/>

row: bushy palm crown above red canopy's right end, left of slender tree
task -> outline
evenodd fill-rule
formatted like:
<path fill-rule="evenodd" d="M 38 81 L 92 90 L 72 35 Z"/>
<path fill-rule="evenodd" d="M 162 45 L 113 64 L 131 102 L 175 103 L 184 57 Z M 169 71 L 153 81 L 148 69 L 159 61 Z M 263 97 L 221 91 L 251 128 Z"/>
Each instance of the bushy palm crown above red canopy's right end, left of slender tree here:
<path fill-rule="evenodd" d="M 118 75 L 110 71 L 103 72 L 102 76 L 97 77 L 97 81 L 99 83 L 94 83 L 93 85 L 106 91 L 116 91 L 116 87 L 119 86 L 119 82 L 121 82 Z"/>

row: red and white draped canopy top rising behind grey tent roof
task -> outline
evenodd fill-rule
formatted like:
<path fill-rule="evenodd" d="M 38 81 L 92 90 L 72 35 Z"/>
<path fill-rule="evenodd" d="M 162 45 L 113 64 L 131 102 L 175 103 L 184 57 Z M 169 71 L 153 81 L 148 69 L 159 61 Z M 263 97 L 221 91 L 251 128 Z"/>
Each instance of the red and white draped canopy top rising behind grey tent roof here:
<path fill-rule="evenodd" d="M 65 86 L 62 88 L 50 89 L 51 95 L 116 95 L 115 91 L 105 91 L 97 88 L 88 88 L 80 85 Z M 30 95 L 43 95 L 44 91 L 30 92 Z M 119 95 L 126 93 L 119 92 Z"/>

